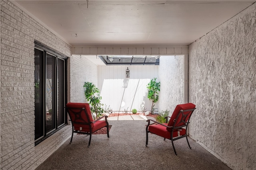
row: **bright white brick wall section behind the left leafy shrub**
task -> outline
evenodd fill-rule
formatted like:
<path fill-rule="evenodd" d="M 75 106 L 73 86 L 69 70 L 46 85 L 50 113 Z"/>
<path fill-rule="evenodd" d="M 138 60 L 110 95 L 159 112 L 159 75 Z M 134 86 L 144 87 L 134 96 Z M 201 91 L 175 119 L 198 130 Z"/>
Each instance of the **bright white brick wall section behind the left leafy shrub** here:
<path fill-rule="evenodd" d="M 84 82 L 98 86 L 98 66 L 80 55 L 70 57 L 70 102 L 86 102 Z"/>

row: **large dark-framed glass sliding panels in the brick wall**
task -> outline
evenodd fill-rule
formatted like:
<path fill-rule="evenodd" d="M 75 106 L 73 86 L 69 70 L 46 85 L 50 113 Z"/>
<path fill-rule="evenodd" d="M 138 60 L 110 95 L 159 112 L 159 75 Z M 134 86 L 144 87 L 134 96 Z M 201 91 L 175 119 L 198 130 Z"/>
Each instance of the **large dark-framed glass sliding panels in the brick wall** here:
<path fill-rule="evenodd" d="M 35 42 L 35 144 L 67 123 L 66 59 Z"/>

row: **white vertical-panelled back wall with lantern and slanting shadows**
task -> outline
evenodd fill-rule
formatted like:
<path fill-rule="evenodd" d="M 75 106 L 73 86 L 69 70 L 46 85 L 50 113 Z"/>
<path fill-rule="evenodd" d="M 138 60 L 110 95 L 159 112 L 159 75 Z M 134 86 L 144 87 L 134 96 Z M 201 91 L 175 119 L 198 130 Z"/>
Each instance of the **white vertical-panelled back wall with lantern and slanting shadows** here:
<path fill-rule="evenodd" d="M 126 78 L 126 69 L 130 78 Z M 98 66 L 98 88 L 102 104 L 114 112 L 150 111 L 152 102 L 147 98 L 147 84 L 152 78 L 158 80 L 158 66 Z M 158 108 L 158 102 L 154 108 Z"/>

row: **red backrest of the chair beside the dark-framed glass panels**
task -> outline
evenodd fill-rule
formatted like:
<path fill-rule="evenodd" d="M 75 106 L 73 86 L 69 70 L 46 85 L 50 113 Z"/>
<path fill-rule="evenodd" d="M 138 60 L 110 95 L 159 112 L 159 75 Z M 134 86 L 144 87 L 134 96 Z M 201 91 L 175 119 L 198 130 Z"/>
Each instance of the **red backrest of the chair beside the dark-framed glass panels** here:
<path fill-rule="evenodd" d="M 94 127 L 88 103 L 68 103 L 66 109 L 75 130 L 90 131 L 90 127 Z"/>

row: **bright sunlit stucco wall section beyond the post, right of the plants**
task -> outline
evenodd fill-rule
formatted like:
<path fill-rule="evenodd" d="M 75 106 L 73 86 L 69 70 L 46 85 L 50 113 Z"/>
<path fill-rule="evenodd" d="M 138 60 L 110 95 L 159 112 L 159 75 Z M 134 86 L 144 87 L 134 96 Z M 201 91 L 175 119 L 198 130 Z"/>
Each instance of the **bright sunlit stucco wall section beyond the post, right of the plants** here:
<path fill-rule="evenodd" d="M 174 111 L 177 104 L 184 103 L 184 56 L 161 56 L 158 76 L 161 82 L 159 111 Z"/>

